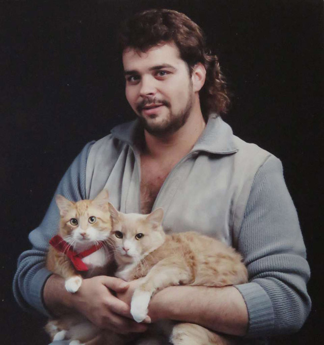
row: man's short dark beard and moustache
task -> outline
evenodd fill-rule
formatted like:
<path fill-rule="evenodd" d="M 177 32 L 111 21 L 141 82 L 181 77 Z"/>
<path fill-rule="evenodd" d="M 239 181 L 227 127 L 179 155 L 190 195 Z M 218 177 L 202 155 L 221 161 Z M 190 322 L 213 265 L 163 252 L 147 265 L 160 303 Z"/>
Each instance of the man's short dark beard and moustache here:
<path fill-rule="evenodd" d="M 150 122 L 148 119 L 144 118 L 141 115 L 141 110 L 146 104 L 162 104 L 168 108 L 169 114 L 165 119 L 163 119 L 162 122 Z M 154 136 L 160 137 L 166 134 L 175 133 L 187 122 L 192 109 L 192 104 L 193 96 L 191 93 L 189 93 L 189 99 L 187 100 L 185 107 L 177 113 L 173 113 L 171 112 L 171 104 L 168 101 L 148 97 L 138 104 L 136 110 L 139 114 L 139 120 L 146 129 L 146 131 Z M 154 119 L 156 117 L 151 118 Z"/>

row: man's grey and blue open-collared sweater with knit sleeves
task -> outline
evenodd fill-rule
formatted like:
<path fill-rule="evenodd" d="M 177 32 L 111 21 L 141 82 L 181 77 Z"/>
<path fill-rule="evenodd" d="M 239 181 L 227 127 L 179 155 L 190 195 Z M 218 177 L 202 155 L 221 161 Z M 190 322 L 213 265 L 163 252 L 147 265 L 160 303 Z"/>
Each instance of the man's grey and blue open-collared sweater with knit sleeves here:
<path fill-rule="evenodd" d="M 139 212 L 141 135 L 135 121 L 87 144 L 55 194 L 80 200 L 106 187 L 120 211 Z M 310 272 L 296 209 L 276 157 L 243 142 L 220 117 L 211 116 L 192 150 L 164 181 L 153 209 L 157 207 L 164 209 L 166 231 L 199 231 L 241 252 L 249 282 L 236 288 L 248 310 L 247 336 L 286 334 L 302 326 L 310 310 Z M 45 256 L 58 221 L 53 199 L 40 226 L 29 234 L 32 249 L 21 254 L 13 285 L 23 308 L 45 315 L 42 290 L 51 275 Z"/>

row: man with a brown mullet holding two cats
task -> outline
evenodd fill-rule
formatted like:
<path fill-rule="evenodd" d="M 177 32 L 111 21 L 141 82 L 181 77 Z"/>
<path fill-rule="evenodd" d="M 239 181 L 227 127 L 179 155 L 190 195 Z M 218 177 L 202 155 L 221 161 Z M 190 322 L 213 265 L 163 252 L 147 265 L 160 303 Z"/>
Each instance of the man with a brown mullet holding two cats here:
<path fill-rule="evenodd" d="M 200 231 L 242 253 L 249 283 L 166 288 L 150 303 L 152 322 L 182 320 L 254 338 L 297 331 L 310 299 L 296 210 L 280 161 L 235 137 L 218 115 L 228 105 L 226 85 L 201 29 L 175 11 L 145 11 L 126 22 L 121 46 L 126 98 L 138 119 L 88 144 L 56 194 L 93 198 L 106 187 L 122 212 L 163 207 L 165 230 Z M 47 315 L 77 310 L 120 333 L 145 331 L 130 316 L 136 282 L 99 276 L 70 294 L 44 268 L 58 219 L 52 201 L 30 233 L 33 249 L 21 255 L 14 282 L 19 303 Z"/>

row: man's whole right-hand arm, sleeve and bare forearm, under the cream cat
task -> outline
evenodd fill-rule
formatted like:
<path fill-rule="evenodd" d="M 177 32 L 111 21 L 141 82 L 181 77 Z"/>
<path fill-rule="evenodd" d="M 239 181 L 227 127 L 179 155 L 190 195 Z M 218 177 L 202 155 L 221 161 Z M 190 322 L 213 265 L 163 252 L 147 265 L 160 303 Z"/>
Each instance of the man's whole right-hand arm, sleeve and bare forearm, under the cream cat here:
<path fill-rule="evenodd" d="M 296 332 L 310 311 L 309 266 L 296 209 L 275 157 L 254 178 L 237 240 L 249 283 L 166 288 L 151 300 L 152 320 L 196 322 L 250 337 Z"/>

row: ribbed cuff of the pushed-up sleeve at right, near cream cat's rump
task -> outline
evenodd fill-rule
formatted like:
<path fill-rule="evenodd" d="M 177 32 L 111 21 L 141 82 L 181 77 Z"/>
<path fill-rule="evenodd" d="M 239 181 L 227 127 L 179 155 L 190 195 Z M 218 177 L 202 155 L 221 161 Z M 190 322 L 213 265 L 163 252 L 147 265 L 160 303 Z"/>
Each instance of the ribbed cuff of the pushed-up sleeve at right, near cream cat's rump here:
<path fill-rule="evenodd" d="M 274 327 L 274 311 L 270 297 L 257 283 L 235 285 L 244 298 L 249 325 L 247 337 L 263 337 Z"/>

